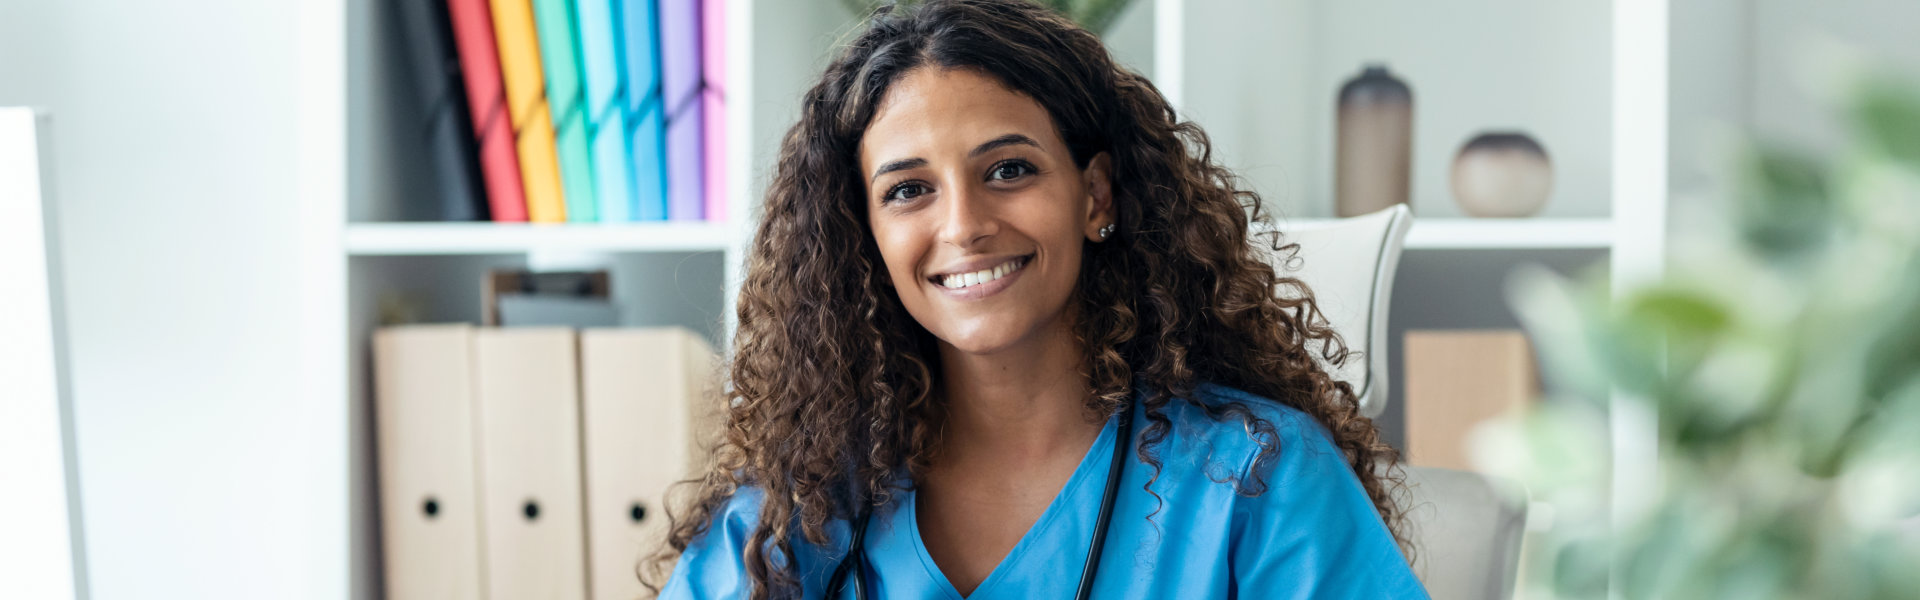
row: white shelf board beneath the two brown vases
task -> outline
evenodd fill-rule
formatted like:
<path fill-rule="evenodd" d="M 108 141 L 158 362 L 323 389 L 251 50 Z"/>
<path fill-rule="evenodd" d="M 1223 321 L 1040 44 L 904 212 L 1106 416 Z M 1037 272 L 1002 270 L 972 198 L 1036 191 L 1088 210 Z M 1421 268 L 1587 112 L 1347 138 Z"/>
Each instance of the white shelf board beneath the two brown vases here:
<path fill-rule="evenodd" d="M 1284 219 L 1286 229 L 1327 225 L 1334 219 Z M 1607 250 L 1613 219 L 1413 219 L 1407 250 Z"/>

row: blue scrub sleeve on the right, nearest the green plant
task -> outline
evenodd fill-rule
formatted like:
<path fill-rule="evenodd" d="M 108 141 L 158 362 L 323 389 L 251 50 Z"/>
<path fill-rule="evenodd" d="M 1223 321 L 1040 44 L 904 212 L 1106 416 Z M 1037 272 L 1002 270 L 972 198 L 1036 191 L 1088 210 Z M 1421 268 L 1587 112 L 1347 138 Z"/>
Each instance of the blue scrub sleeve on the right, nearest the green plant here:
<path fill-rule="evenodd" d="M 1313 417 L 1273 419 L 1281 456 L 1267 490 L 1235 506 L 1233 581 L 1242 598 L 1427 598 L 1346 458 Z M 1248 467 L 1240 473 L 1248 473 Z"/>

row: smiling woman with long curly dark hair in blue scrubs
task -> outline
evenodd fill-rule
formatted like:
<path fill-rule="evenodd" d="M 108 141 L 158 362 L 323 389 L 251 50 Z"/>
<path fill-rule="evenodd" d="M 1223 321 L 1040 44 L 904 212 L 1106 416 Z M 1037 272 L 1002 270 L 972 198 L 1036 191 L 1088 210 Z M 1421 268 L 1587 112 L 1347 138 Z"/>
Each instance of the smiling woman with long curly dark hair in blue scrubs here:
<path fill-rule="evenodd" d="M 1260 198 L 1098 38 L 881 10 L 803 102 L 662 596 L 1425 596 Z"/>

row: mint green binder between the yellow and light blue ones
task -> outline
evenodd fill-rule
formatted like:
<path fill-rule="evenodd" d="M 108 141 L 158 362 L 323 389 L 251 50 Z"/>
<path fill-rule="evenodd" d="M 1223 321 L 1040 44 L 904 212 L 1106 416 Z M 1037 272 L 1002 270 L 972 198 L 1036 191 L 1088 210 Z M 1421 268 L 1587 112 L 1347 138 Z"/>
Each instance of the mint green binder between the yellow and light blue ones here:
<path fill-rule="evenodd" d="M 574 31 L 572 4 L 574 0 L 534 0 L 534 25 L 540 29 L 540 58 L 547 73 L 566 221 L 593 223 L 599 221 L 599 206 L 593 198 L 593 160 L 588 156 L 588 102 L 580 83 L 580 37 Z"/>

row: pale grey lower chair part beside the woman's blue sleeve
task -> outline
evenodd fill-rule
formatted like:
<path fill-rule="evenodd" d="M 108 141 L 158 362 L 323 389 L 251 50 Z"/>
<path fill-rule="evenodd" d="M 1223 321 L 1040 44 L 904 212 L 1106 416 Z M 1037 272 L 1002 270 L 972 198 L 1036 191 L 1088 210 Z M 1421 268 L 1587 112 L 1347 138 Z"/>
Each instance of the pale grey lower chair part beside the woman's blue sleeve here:
<path fill-rule="evenodd" d="M 1413 573 L 1434 598 L 1513 598 L 1526 492 L 1480 473 L 1405 467 Z"/>

